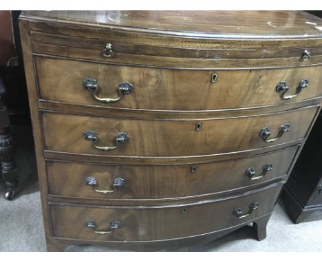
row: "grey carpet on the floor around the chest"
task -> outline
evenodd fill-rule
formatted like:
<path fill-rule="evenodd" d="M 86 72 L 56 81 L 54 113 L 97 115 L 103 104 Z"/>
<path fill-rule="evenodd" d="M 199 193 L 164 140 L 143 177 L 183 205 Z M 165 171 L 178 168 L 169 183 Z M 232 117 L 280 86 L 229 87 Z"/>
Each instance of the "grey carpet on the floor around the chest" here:
<path fill-rule="evenodd" d="M 0 251 L 46 251 L 39 187 L 36 181 L 30 129 L 14 127 L 21 193 L 4 200 L 0 185 Z M 315 211 L 301 224 L 293 224 L 280 200 L 267 227 L 267 238 L 253 239 L 251 227 L 241 228 L 211 243 L 179 251 L 322 251 L 322 212 Z M 67 251 L 117 251 L 102 246 L 69 246 Z"/>

